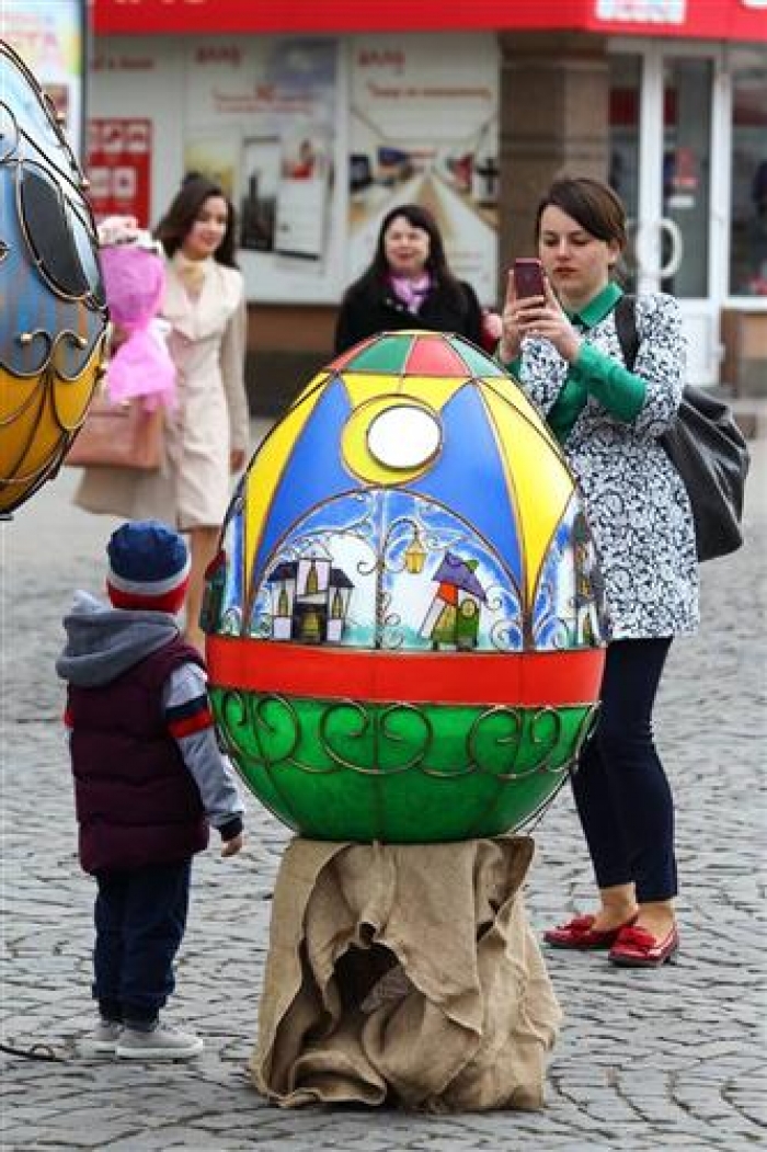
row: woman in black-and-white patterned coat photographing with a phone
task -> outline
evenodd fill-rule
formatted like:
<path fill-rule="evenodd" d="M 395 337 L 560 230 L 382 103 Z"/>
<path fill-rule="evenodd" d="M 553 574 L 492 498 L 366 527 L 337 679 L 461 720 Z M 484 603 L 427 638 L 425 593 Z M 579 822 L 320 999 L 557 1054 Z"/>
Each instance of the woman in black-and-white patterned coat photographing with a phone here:
<path fill-rule="evenodd" d="M 684 382 L 677 302 L 636 300 L 639 348 L 624 364 L 612 279 L 625 213 L 606 184 L 557 180 L 536 221 L 544 295 L 509 278 L 499 357 L 540 407 L 583 493 L 605 581 L 612 639 L 595 732 L 572 778 L 599 888 L 593 912 L 545 933 L 553 947 L 609 949 L 658 967 L 678 948 L 674 804 L 652 712 L 674 636 L 698 623 L 698 568 L 684 484 L 659 437 Z"/>

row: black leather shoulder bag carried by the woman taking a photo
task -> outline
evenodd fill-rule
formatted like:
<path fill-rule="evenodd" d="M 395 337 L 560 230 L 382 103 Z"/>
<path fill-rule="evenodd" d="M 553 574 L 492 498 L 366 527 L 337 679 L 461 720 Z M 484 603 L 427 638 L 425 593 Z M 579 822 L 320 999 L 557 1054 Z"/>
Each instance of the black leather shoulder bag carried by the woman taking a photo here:
<path fill-rule="evenodd" d="M 633 296 L 615 305 L 615 329 L 629 371 L 639 349 Z M 714 560 L 743 544 L 741 520 L 749 448 L 723 400 L 688 384 L 673 427 L 659 438 L 688 491 L 698 560 Z"/>

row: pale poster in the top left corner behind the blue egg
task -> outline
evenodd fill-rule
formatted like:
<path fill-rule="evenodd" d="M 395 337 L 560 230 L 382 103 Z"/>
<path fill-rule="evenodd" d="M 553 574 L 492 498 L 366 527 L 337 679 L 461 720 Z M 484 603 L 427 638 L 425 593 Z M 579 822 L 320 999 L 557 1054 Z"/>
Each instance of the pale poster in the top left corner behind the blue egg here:
<path fill-rule="evenodd" d="M 64 118 L 73 151 L 83 149 L 83 0 L 2 0 L 0 39 L 14 48 Z"/>

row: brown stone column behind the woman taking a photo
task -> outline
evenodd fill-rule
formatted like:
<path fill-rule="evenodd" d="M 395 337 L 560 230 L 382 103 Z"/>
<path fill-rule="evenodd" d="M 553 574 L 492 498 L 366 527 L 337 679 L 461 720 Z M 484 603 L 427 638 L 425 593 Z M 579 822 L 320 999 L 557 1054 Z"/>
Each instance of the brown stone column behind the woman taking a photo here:
<path fill-rule="evenodd" d="M 502 32 L 499 300 L 514 256 L 533 256 L 541 194 L 564 173 L 607 179 L 605 37 Z"/>

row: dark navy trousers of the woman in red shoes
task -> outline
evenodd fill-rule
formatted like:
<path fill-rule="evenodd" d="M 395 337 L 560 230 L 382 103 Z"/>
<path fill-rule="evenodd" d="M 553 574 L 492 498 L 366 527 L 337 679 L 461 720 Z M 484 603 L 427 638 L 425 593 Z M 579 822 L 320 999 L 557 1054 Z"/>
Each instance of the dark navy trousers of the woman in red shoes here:
<path fill-rule="evenodd" d="M 597 884 L 633 882 L 639 903 L 677 892 L 674 801 L 652 728 L 670 645 L 670 638 L 609 645 L 599 720 L 572 778 Z"/>

